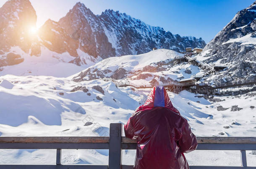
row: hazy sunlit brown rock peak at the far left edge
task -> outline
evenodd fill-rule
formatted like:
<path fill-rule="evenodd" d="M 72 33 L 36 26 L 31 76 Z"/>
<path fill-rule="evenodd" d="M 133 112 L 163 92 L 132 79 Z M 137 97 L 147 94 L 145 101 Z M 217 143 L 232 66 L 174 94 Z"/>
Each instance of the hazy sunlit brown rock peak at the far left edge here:
<path fill-rule="evenodd" d="M 37 15 L 29 0 L 10 0 L 0 8 L 0 67 L 21 63 L 21 56 L 11 54 L 11 47 L 38 55 L 39 46 L 29 29 L 35 27 Z"/>

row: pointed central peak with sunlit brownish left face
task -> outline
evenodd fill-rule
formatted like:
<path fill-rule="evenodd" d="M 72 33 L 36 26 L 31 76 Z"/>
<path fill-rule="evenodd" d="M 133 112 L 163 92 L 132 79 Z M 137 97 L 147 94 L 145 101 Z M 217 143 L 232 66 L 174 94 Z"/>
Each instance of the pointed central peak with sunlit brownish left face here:
<path fill-rule="evenodd" d="M 77 3 L 59 23 L 73 39 L 79 40 L 82 51 L 94 57 L 115 56 L 115 49 L 108 42 L 99 18 L 84 4 Z"/>

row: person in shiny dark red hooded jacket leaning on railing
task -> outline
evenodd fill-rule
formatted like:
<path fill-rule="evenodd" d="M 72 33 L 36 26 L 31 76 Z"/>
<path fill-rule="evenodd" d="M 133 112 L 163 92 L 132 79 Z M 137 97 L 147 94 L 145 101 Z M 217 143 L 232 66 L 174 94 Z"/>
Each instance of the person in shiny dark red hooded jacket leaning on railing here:
<path fill-rule="evenodd" d="M 164 87 L 152 89 L 124 129 L 126 137 L 137 140 L 134 169 L 189 169 L 184 153 L 196 149 L 196 136 Z"/>

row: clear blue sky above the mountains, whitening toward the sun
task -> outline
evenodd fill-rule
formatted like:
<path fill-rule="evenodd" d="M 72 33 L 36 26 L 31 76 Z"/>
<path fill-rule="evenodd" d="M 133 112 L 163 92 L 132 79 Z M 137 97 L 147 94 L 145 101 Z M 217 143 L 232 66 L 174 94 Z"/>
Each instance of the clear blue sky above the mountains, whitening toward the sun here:
<path fill-rule="evenodd" d="M 2 6 L 7 0 L 0 0 Z M 37 26 L 48 18 L 59 20 L 79 0 L 31 0 Z M 254 0 L 80 0 L 94 14 L 119 10 L 173 34 L 202 37 L 208 43 L 227 23 Z"/>

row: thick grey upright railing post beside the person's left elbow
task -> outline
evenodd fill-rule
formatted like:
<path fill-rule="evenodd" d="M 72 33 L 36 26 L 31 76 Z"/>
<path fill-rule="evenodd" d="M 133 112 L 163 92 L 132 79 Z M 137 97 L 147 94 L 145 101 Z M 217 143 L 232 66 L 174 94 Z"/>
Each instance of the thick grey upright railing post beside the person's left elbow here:
<path fill-rule="evenodd" d="M 122 165 L 122 124 L 110 124 L 110 142 L 109 142 L 109 169 L 121 169 Z"/>

